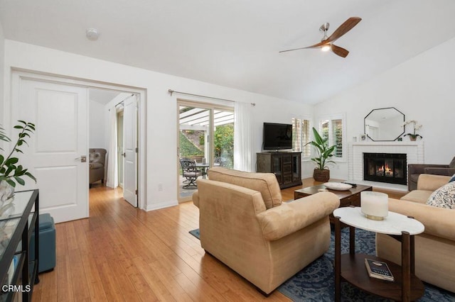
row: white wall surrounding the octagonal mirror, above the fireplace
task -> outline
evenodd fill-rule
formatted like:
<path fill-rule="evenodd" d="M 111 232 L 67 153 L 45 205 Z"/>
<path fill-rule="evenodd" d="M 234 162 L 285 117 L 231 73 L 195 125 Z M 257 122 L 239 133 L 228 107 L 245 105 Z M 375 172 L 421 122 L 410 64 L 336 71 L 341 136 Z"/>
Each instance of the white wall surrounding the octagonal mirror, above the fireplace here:
<path fill-rule="evenodd" d="M 406 121 L 423 125 L 424 161 L 449 164 L 455 156 L 455 38 L 383 74 L 314 106 L 315 116 L 346 113 L 347 138 L 363 133 L 363 118 L 374 108 L 395 107 Z M 374 58 L 372 58 L 374 60 Z M 412 133 L 412 125 L 406 129 Z M 405 137 L 403 140 L 409 140 Z M 331 177 L 347 178 L 348 164 L 331 168 Z"/>

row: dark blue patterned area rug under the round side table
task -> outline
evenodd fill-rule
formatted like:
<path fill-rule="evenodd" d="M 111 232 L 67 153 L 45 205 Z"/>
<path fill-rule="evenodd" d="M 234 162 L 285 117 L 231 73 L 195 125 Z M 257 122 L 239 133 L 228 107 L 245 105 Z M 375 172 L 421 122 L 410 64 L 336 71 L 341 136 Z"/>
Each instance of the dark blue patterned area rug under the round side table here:
<path fill-rule="evenodd" d="M 341 230 L 341 253 L 349 252 L 348 228 Z M 199 239 L 199 229 L 191 230 L 190 234 Z M 375 233 L 366 230 L 355 230 L 355 252 L 375 255 Z M 311 262 L 307 267 L 292 276 L 278 287 L 277 291 L 293 301 L 334 301 L 335 280 L 333 278 L 333 257 L 335 255 L 335 236 L 331 234 L 328 251 Z M 455 293 L 439 289 L 425 283 L 425 293 L 418 301 L 454 302 Z M 390 301 L 370 295 L 360 289 L 343 282 L 341 284 L 341 301 Z"/>

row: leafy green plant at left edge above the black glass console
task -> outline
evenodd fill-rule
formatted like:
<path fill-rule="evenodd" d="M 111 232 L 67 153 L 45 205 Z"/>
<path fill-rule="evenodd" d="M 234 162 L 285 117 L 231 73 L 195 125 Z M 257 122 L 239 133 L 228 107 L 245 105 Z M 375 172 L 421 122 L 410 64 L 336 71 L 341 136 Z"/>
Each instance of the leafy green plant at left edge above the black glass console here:
<path fill-rule="evenodd" d="M 14 142 L 14 147 L 9 153 L 0 153 L 0 199 L 2 202 L 0 203 L 0 208 L 4 206 L 3 203 L 6 201 L 11 202 L 16 184 L 25 184 L 23 177 L 29 177 L 36 182 L 36 178 L 28 172 L 28 169 L 18 164 L 18 157 L 14 157 L 16 152 L 23 153 L 21 147 L 24 144 L 28 145 L 26 139 L 30 138 L 30 134 L 35 130 L 35 125 L 25 121 L 18 121 L 18 124 L 14 128 L 20 131 L 16 142 Z M 11 142 L 11 139 L 6 135 L 3 128 L 0 128 L 0 140 Z M 0 147 L 0 151 L 3 152 L 4 149 Z"/>

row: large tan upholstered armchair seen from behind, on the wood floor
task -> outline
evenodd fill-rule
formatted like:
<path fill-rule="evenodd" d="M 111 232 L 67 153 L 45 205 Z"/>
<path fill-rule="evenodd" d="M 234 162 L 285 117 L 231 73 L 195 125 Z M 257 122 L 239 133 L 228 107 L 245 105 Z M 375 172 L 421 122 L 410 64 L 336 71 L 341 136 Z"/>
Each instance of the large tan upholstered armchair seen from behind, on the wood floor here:
<path fill-rule="evenodd" d="M 221 167 L 198 179 L 193 202 L 203 249 L 264 293 L 328 250 L 328 215 L 340 204 L 329 192 L 282 203 L 274 174 Z"/>

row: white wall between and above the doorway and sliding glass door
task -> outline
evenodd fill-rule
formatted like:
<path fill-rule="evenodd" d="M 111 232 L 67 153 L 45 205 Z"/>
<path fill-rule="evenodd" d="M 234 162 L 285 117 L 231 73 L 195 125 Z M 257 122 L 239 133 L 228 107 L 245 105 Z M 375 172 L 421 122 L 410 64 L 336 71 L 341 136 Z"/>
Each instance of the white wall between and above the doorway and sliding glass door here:
<path fill-rule="evenodd" d="M 5 74 L 6 87 L 11 82 L 9 70 L 14 67 L 146 89 L 147 209 L 177 204 L 177 98 L 195 99 L 177 94 L 170 96 L 168 89 L 255 103 L 252 119 L 257 152 L 261 151 L 264 121 L 289 123 L 296 114 L 312 115 L 312 106 L 13 40 L 5 40 L 5 59 L 8 70 Z M 199 101 L 207 102 L 208 99 Z M 9 108 L 9 104 L 5 105 Z M 158 191 L 159 184 L 163 191 Z"/>

